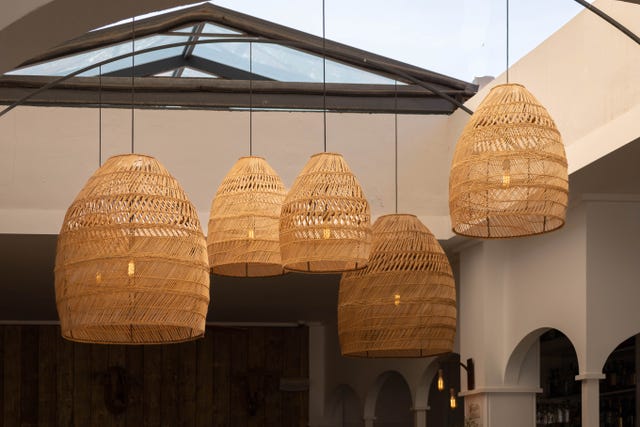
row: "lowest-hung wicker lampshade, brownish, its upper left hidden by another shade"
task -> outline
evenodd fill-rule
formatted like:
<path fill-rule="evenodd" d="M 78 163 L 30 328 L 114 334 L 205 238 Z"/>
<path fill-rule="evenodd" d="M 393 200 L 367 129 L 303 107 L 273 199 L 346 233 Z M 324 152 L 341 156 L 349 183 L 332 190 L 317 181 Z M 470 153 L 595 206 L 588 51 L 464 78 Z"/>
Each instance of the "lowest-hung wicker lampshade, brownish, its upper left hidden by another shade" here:
<path fill-rule="evenodd" d="M 340 281 L 342 354 L 433 356 L 453 351 L 455 333 L 456 288 L 436 238 L 414 215 L 378 218 L 369 264 Z"/>

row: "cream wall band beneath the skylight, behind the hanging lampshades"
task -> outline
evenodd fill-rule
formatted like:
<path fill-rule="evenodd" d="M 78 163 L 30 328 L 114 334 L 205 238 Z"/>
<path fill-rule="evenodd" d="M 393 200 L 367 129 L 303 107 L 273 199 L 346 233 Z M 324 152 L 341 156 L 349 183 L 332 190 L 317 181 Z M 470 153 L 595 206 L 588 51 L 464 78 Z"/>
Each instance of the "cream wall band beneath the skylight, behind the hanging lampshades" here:
<path fill-rule="evenodd" d="M 102 158 L 131 149 L 131 112 L 103 109 Z M 451 236 L 447 116 L 398 118 L 399 209 Z M 0 118 L 0 232 L 56 234 L 66 208 L 98 167 L 98 110 L 21 107 Z M 319 113 L 255 112 L 254 154 L 289 187 L 323 150 Z M 389 114 L 329 114 L 327 149 L 344 155 L 375 217 L 395 210 L 394 121 Z M 135 150 L 178 179 L 206 227 L 211 200 L 233 163 L 249 154 L 246 112 L 137 110 Z"/>

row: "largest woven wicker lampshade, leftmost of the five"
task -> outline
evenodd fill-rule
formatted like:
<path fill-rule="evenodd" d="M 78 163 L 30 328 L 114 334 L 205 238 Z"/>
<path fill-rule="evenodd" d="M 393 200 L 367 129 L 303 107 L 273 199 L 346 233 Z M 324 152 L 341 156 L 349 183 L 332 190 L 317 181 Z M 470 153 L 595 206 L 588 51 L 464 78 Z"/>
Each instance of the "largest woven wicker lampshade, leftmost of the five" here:
<path fill-rule="evenodd" d="M 156 344 L 204 334 L 207 247 L 194 206 L 153 157 L 111 157 L 85 184 L 56 252 L 62 336 Z"/>

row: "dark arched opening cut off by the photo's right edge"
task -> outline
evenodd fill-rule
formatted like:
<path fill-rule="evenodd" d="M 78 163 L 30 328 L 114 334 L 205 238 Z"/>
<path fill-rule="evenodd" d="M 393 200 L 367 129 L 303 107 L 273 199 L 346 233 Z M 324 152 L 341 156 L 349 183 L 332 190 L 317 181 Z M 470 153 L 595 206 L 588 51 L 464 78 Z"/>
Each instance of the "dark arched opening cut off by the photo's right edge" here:
<path fill-rule="evenodd" d="M 600 380 L 600 425 L 603 427 L 635 427 L 638 382 L 636 366 L 640 357 L 640 335 L 635 335 L 611 352 Z"/>

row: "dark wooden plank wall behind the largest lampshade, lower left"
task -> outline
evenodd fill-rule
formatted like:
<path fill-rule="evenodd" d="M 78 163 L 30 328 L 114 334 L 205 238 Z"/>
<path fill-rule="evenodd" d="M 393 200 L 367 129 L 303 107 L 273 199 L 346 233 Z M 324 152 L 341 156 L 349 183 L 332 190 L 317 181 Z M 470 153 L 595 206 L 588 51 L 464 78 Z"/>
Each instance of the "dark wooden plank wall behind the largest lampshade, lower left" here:
<path fill-rule="evenodd" d="M 208 328 L 175 345 L 72 343 L 56 326 L 0 326 L 0 427 L 305 426 L 301 328 Z"/>

